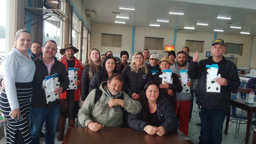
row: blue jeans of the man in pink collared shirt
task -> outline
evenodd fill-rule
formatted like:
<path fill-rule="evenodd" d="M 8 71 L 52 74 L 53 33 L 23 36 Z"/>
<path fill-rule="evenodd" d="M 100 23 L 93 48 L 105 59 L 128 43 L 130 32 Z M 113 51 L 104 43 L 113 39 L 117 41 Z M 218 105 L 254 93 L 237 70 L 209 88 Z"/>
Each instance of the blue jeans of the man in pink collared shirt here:
<path fill-rule="evenodd" d="M 39 144 L 45 122 L 45 143 L 54 144 L 55 131 L 60 115 L 60 105 L 49 108 L 30 107 L 29 124 L 33 144 Z"/>

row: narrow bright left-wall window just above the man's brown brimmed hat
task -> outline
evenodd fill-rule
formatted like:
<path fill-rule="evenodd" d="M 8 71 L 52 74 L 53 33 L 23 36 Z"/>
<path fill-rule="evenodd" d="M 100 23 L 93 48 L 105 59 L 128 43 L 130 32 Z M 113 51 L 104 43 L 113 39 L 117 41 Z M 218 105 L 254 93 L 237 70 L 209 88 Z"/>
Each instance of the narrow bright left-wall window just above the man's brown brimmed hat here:
<path fill-rule="evenodd" d="M 78 18 L 76 17 L 75 12 L 73 12 L 73 19 L 72 19 L 72 45 L 77 48 L 78 45 L 78 33 L 79 33 L 79 23 Z M 77 48 L 78 49 L 78 48 Z M 75 57 L 77 57 L 77 53 L 75 54 Z"/>

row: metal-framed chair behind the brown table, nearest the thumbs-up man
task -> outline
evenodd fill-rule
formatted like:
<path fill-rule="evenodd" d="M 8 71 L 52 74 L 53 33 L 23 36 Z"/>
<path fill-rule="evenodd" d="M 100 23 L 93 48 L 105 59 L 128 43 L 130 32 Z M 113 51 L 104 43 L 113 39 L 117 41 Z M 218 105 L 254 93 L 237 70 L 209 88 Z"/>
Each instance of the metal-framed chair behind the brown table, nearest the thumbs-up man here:
<path fill-rule="evenodd" d="M 231 94 L 231 100 L 241 100 L 242 98 L 235 94 L 232 93 Z M 241 111 L 241 114 L 237 114 L 236 113 L 236 107 L 235 106 L 231 106 L 231 115 L 230 117 L 232 117 L 233 119 L 229 119 L 229 121 L 236 123 L 236 132 L 239 132 L 239 128 L 240 128 L 240 124 L 247 124 L 247 122 L 245 120 L 247 120 L 247 116 L 243 114 L 243 110 Z M 237 124 L 238 124 L 238 129 L 237 129 Z M 235 132 L 235 138 L 236 138 L 236 132 Z"/>

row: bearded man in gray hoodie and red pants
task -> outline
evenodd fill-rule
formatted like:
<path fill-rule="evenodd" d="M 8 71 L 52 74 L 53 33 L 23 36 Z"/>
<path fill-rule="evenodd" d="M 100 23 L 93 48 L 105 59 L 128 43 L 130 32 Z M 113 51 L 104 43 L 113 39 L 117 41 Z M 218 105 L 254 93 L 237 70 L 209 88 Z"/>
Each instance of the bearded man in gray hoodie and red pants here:
<path fill-rule="evenodd" d="M 176 92 L 176 115 L 179 117 L 179 130 L 188 136 L 188 115 L 191 104 L 191 89 L 196 89 L 197 79 L 189 80 L 187 54 L 177 53 L 177 62 L 171 66 L 173 73 L 180 76 L 182 92 Z"/>

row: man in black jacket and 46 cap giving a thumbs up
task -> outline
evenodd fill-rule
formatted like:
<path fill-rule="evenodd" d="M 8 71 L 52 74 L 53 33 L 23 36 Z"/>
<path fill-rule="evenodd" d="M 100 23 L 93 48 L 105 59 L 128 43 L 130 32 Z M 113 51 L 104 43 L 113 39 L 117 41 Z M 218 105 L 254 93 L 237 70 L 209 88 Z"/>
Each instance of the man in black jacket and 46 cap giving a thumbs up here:
<path fill-rule="evenodd" d="M 240 85 L 236 65 L 225 60 L 223 56 L 224 40 L 213 40 L 211 52 L 212 56 L 208 59 L 197 62 L 199 56 L 196 51 L 188 68 L 188 76 L 192 79 L 198 78 L 195 94 L 196 103 L 200 108 L 200 144 L 221 144 L 222 127 L 230 107 L 231 92 L 237 90 Z M 212 84 L 216 87 L 212 87 Z"/>

